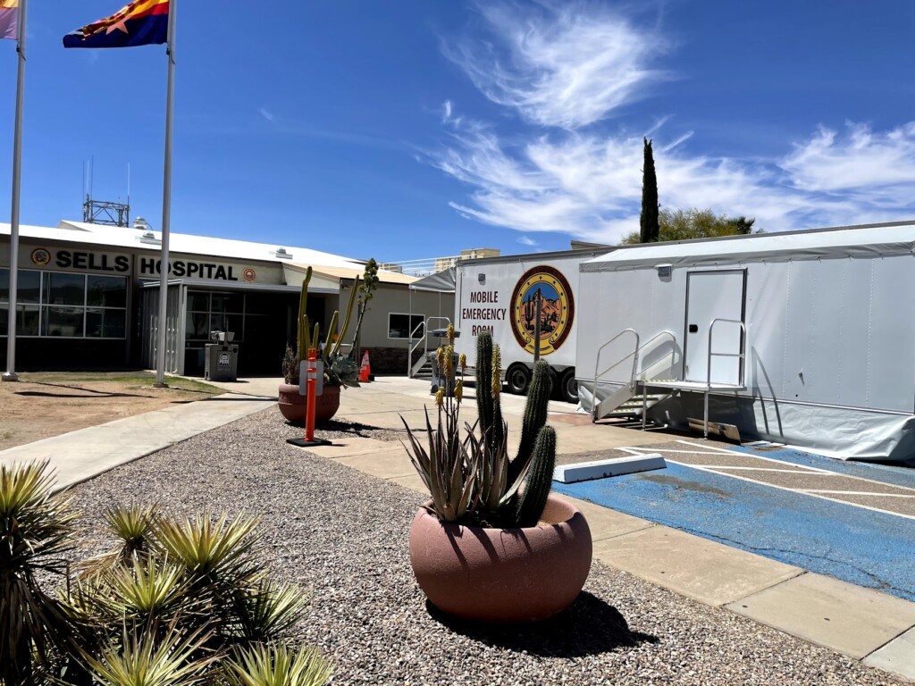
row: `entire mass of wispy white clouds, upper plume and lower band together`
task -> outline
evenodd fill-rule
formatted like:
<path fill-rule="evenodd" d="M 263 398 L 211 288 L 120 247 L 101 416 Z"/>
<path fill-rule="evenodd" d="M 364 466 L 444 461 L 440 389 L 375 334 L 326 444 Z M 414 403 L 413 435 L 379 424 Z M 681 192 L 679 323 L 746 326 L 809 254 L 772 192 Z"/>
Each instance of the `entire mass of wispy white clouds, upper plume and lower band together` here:
<path fill-rule="evenodd" d="M 588 15 L 583 5 L 538 6 L 529 14 L 519 5 L 481 9 L 496 42 L 448 52 L 490 100 L 537 127 L 503 136 L 447 101 L 449 140 L 429 160 L 471 188 L 468 200 L 451 203 L 467 218 L 524 234 L 619 241 L 638 229 L 643 134 L 590 124 L 662 74 L 648 69 L 644 49 L 623 56 L 617 46 L 660 38 L 616 16 Z M 768 160 L 691 154 L 684 143 L 694 134 L 668 135 L 668 125 L 663 117 L 644 133 L 654 138 L 662 206 L 743 214 L 765 230 L 915 215 L 915 122 L 882 132 L 861 123 L 821 128 Z"/>

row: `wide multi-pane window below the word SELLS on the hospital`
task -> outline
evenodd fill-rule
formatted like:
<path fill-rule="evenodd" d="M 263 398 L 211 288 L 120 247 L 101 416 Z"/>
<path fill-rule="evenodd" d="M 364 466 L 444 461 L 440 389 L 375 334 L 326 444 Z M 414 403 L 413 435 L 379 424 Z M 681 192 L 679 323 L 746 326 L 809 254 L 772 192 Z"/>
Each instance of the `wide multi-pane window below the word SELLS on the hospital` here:
<path fill-rule="evenodd" d="M 123 276 L 19 270 L 16 337 L 125 338 Z M 9 270 L 0 269 L 0 336 L 9 322 Z"/>

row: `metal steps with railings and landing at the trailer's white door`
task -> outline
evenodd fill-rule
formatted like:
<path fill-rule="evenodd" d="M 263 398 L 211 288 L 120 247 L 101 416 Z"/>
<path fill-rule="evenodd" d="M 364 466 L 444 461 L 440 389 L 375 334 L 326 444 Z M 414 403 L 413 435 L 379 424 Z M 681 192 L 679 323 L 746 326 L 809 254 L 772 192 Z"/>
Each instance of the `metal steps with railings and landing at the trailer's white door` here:
<path fill-rule="evenodd" d="M 713 334 L 715 331 L 715 325 L 718 322 L 737 324 L 740 327 L 740 352 L 715 352 L 712 349 Z M 608 348 L 608 346 L 610 346 L 612 343 L 626 335 L 631 335 L 635 341 L 635 345 L 632 347 L 631 351 L 624 355 L 622 358 L 615 361 L 613 364 L 601 370 L 601 353 L 605 348 Z M 651 353 L 654 352 L 657 348 L 660 348 L 661 343 L 664 342 L 667 338 L 669 338 L 670 342 L 673 344 L 671 352 L 669 354 L 662 355 L 660 358 L 652 359 L 646 363 L 646 359 L 651 356 Z M 667 398 L 670 398 L 673 394 L 681 393 L 682 391 L 696 391 L 705 395 L 705 416 L 703 420 L 703 428 L 705 438 L 708 438 L 709 393 L 711 391 L 733 391 L 736 397 L 737 391 L 746 390 L 746 385 L 743 381 L 744 372 L 742 366 L 740 371 L 740 380 L 737 384 L 717 383 L 712 381 L 712 358 L 726 357 L 739 358 L 743 360 L 746 358 L 746 345 L 747 328 L 742 321 L 737 319 L 724 318 L 713 319 L 708 327 L 708 351 L 706 358 L 707 374 L 705 382 L 682 381 L 677 379 L 660 379 L 657 378 L 655 374 L 661 372 L 662 370 L 673 370 L 674 368 L 676 353 L 679 349 L 677 346 L 676 337 L 674 337 L 673 333 L 670 331 L 665 330 L 659 334 L 656 334 L 655 336 L 652 336 L 644 344 L 640 344 L 639 332 L 633 328 L 625 328 L 620 331 L 619 334 L 613 338 L 610 338 L 603 346 L 597 349 L 597 359 L 595 360 L 594 365 L 594 381 L 591 386 L 591 391 L 593 394 L 591 421 L 597 422 L 599 419 L 607 419 L 612 417 L 641 419 L 641 425 L 644 429 L 647 424 L 648 411 L 651 409 L 651 407 Z M 619 386 L 618 389 L 610 391 L 606 398 L 598 400 L 597 382 L 600 381 L 601 378 L 607 374 L 609 370 L 615 369 L 630 358 L 632 358 L 632 368 L 629 381 Z"/>

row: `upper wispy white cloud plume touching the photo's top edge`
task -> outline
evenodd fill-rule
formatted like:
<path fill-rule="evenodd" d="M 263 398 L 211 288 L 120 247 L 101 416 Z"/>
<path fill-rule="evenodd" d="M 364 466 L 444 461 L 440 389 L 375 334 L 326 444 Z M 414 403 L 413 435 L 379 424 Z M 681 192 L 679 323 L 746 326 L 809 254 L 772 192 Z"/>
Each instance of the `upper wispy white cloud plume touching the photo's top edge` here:
<path fill-rule="evenodd" d="M 667 76 L 651 62 L 669 47 L 607 8 L 578 2 L 481 5 L 495 42 L 465 39 L 445 54 L 492 102 L 524 119 L 577 128 L 610 116 Z"/>

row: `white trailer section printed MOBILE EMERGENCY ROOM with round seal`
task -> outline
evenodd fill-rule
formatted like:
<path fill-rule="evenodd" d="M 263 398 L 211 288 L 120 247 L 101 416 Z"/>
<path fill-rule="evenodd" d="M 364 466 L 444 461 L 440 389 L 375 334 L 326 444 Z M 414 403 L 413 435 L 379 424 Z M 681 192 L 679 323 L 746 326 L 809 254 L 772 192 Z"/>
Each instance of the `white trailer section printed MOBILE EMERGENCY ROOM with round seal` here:
<path fill-rule="evenodd" d="M 476 360 L 477 336 L 486 329 L 501 348 L 509 391 L 524 393 L 531 382 L 535 312 L 540 300 L 540 357 L 554 371 L 558 397 L 578 402 L 576 326 L 580 316 L 578 266 L 601 250 L 538 252 L 458 262 L 455 351 Z M 586 311 L 586 315 L 587 314 Z"/>

